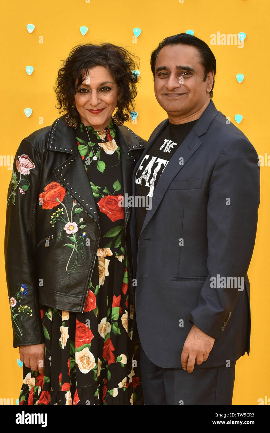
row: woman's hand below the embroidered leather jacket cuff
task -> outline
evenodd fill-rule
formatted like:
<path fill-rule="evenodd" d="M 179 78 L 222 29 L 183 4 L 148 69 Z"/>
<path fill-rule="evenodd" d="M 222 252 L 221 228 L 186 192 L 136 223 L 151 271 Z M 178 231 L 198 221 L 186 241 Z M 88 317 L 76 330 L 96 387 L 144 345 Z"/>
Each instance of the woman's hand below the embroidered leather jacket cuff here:
<path fill-rule="evenodd" d="M 20 346 L 20 360 L 34 372 L 44 373 L 45 343 Z"/>

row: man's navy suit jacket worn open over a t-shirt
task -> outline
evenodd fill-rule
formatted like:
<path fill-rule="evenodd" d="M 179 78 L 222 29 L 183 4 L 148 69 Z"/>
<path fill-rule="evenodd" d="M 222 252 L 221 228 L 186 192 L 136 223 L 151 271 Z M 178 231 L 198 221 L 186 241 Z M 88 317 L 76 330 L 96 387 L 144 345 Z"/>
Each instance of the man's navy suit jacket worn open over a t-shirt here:
<path fill-rule="evenodd" d="M 156 127 L 134 168 L 133 196 L 140 162 L 168 123 Z M 182 368 L 193 323 L 215 338 L 208 359 L 195 368 L 225 365 L 249 353 L 247 270 L 260 168 L 253 145 L 228 123 L 210 100 L 161 174 L 138 244 L 133 208 L 137 328 L 144 352 L 159 367 Z"/>

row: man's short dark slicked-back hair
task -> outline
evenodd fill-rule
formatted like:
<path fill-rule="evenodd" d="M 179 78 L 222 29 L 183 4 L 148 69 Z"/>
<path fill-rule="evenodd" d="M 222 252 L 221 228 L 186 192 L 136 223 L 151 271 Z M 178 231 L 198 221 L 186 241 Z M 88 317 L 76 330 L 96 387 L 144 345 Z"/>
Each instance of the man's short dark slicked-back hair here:
<path fill-rule="evenodd" d="M 157 56 L 159 55 L 161 48 L 166 47 L 166 45 L 191 45 L 198 49 L 200 53 L 199 62 L 205 70 L 203 80 L 206 80 L 208 72 L 214 71 L 214 81 L 210 92 L 210 97 L 212 97 L 217 67 L 215 56 L 202 39 L 196 38 L 196 36 L 189 35 L 188 33 L 179 33 L 178 35 L 168 36 L 167 38 L 163 39 L 163 41 L 159 42 L 159 45 L 151 53 L 150 58 L 151 71 L 153 73 L 154 79 Z"/>

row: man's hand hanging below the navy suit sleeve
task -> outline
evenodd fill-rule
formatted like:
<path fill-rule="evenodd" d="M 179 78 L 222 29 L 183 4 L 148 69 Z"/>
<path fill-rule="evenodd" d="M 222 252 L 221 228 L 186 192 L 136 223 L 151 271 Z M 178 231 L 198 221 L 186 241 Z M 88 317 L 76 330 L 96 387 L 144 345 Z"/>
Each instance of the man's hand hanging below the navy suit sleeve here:
<path fill-rule="evenodd" d="M 192 373 L 194 364 L 202 364 L 209 356 L 215 338 L 205 334 L 202 330 L 193 325 L 185 339 L 181 353 L 181 364 L 184 370 Z"/>

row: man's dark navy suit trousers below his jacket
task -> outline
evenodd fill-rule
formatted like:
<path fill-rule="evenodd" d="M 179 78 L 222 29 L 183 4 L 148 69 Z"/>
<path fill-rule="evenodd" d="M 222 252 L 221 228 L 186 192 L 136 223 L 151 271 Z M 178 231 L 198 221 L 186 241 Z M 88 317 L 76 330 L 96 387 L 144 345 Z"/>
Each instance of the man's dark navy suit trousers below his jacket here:
<path fill-rule="evenodd" d="M 140 346 L 143 398 L 146 405 L 230 405 L 234 390 L 235 364 L 212 368 L 161 368 L 153 364 Z"/>

